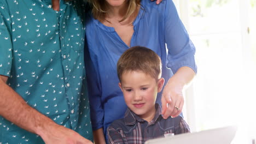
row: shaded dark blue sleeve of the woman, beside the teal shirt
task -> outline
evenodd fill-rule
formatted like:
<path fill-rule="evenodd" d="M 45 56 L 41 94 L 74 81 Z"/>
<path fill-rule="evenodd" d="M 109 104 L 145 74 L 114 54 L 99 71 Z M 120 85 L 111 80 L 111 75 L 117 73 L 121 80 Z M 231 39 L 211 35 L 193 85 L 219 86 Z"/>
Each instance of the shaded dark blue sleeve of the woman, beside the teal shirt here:
<path fill-rule="evenodd" d="M 97 57 L 93 51 L 89 50 L 88 45 L 85 42 L 85 69 L 88 83 L 92 130 L 97 130 L 103 127 L 104 110 L 101 101 L 102 93 Z"/>

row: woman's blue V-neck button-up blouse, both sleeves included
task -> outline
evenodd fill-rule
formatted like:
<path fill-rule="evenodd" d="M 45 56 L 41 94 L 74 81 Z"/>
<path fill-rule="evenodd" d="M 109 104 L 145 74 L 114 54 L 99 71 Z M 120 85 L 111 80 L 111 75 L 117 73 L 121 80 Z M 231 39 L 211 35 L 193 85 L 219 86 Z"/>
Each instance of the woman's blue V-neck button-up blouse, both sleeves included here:
<path fill-rule="evenodd" d="M 141 0 L 141 9 L 133 22 L 131 46 L 146 46 L 162 60 L 162 77 L 167 81 L 184 66 L 196 72 L 195 47 L 191 43 L 177 10 L 171 0 L 159 5 Z M 104 128 L 124 116 L 127 106 L 118 87 L 117 62 L 129 49 L 113 27 L 104 26 L 90 14 L 86 21 L 88 57 L 85 58 L 88 74 L 92 128 Z M 167 47 L 166 47 L 167 44 Z M 166 49 L 167 48 L 167 49 Z M 166 67 L 165 67 L 166 66 Z M 156 99 L 161 101 L 161 93 Z"/>

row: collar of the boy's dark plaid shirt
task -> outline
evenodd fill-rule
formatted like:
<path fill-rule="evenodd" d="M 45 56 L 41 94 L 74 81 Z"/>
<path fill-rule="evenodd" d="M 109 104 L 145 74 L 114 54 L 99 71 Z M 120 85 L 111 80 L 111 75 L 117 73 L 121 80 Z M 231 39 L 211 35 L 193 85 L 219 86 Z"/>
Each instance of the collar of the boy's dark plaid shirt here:
<path fill-rule="evenodd" d="M 149 122 L 149 124 L 153 124 L 155 123 L 158 118 L 161 116 L 161 106 L 159 106 L 159 104 L 155 104 L 155 116 L 152 119 L 151 122 Z M 136 115 L 133 111 L 131 111 L 130 109 L 127 109 L 125 112 L 125 116 L 124 116 L 124 121 L 126 125 L 134 125 L 136 124 L 136 122 L 144 122 L 145 120 L 140 118 L 138 115 Z"/>

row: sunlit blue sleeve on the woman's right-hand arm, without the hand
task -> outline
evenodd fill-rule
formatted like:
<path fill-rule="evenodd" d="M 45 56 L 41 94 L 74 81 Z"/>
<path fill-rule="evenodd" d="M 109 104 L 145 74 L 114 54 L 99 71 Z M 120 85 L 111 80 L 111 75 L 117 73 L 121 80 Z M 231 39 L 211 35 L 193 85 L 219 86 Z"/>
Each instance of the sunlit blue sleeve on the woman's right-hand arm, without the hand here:
<path fill-rule="evenodd" d="M 166 0 L 165 8 L 165 43 L 167 44 L 166 67 L 175 74 L 181 67 L 190 67 L 197 73 L 195 64 L 195 46 L 191 42 L 188 32 L 177 9 L 171 0 Z"/>

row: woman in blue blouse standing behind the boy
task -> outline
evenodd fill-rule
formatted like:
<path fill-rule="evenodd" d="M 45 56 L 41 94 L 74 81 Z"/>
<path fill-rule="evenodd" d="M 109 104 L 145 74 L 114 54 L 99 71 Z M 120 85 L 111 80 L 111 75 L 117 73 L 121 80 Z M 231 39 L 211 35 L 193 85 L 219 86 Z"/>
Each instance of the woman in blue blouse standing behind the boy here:
<path fill-rule="evenodd" d="M 95 142 L 102 143 L 108 125 L 124 117 L 127 106 L 118 87 L 116 65 L 121 54 L 132 46 L 149 47 L 161 57 L 166 66 L 162 67 L 162 76 L 167 83 L 156 102 L 162 103 L 164 118 L 178 116 L 184 103 L 182 90 L 197 68 L 195 47 L 173 2 L 89 2 L 93 8 L 86 21 L 86 35 L 90 37 L 86 38 L 85 62 Z"/>

